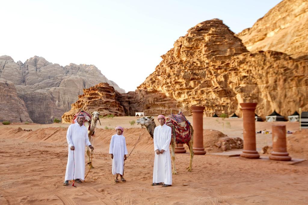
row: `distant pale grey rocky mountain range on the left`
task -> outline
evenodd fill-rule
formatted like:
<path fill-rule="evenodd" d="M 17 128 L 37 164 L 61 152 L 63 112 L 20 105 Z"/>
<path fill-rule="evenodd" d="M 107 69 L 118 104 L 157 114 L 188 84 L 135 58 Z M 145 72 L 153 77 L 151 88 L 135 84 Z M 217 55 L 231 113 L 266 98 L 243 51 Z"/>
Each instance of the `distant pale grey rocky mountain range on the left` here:
<path fill-rule="evenodd" d="M 25 63 L 17 63 L 9 56 L 0 57 L 0 77 L 14 83 L 18 97 L 26 104 L 30 118 L 36 123 L 52 123 L 60 119 L 71 104 L 78 99 L 84 88 L 109 81 L 94 65 L 60 66 L 34 56 Z"/>

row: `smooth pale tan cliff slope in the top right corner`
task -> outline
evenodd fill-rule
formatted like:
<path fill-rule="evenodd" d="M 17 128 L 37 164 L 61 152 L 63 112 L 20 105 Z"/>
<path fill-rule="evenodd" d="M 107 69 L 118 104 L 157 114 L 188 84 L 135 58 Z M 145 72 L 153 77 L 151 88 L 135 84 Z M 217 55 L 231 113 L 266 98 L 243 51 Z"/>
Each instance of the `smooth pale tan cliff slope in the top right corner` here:
<path fill-rule="evenodd" d="M 284 0 L 237 36 L 251 52 L 274 50 L 308 58 L 308 2 Z"/>

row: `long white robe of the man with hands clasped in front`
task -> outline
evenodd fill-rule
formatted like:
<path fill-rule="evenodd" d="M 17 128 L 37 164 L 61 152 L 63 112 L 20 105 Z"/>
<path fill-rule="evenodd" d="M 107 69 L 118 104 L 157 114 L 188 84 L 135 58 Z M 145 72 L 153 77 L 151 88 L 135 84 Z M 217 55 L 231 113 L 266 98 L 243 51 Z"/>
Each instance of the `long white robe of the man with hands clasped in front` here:
<path fill-rule="evenodd" d="M 164 150 L 162 154 L 156 154 L 153 168 L 153 183 L 165 183 L 172 185 L 171 157 L 169 145 L 171 141 L 171 127 L 167 125 L 157 126 L 154 129 L 154 151 Z"/>

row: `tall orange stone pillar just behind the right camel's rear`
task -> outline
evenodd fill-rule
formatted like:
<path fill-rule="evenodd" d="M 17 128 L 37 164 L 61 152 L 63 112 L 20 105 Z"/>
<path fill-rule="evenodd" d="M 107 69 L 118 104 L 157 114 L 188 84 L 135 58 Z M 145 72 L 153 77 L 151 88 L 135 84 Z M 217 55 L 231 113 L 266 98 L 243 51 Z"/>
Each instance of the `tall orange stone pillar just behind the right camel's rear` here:
<path fill-rule="evenodd" d="M 197 155 L 205 155 L 203 148 L 203 111 L 204 106 L 192 106 L 193 113 L 193 153 Z"/>

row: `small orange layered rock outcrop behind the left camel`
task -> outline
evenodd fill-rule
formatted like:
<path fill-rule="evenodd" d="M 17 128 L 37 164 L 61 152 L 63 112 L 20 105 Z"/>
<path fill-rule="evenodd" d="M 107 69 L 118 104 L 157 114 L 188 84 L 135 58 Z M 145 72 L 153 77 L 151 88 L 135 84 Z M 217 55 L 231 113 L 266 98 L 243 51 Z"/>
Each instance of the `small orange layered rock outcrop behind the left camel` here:
<path fill-rule="evenodd" d="M 99 111 L 100 116 L 125 116 L 124 108 L 118 101 L 118 94 L 108 83 L 83 89 L 83 94 L 78 96 L 78 101 L 72 104 L 71 110 L 63 114 L 62 123 L 71 123 L 73 116 L 80 110 L 88 113 Z"/>

